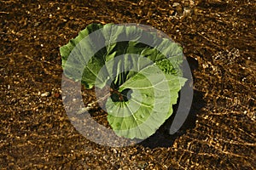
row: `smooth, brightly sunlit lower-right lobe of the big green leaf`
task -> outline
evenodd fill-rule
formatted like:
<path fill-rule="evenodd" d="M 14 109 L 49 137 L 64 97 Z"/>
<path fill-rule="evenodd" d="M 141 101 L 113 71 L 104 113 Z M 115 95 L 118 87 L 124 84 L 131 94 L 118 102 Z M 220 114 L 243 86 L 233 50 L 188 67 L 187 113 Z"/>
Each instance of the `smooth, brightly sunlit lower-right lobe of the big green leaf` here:
<path fill-rule="evenodd" d="M 119 92 L 131 89 L 131 99 L 108 99 L 110 126 L 119 136 L 148 138 L 172 115 L 172 105 L 177 103 L 177 93 L 185 81 L 183 77 L 162 74 L 157 65 L 149 65 L 120 86 Z"/>

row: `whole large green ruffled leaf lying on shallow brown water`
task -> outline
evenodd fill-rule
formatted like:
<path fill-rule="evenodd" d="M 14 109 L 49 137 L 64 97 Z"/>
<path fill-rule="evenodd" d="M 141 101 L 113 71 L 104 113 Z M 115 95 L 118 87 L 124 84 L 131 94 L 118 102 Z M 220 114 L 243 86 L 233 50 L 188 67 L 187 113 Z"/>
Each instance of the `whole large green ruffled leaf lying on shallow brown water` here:
<path fill-rule="evenodd" d="M 172 115 L 185 82 L 177 43 L 137 26 L 92 24 L 60 50 L 64 74 L 85 88 L 130 92 L 127 100 L 112 94 L 106 103 L 108 122 L 119 136 L 148 138 Z"/>

